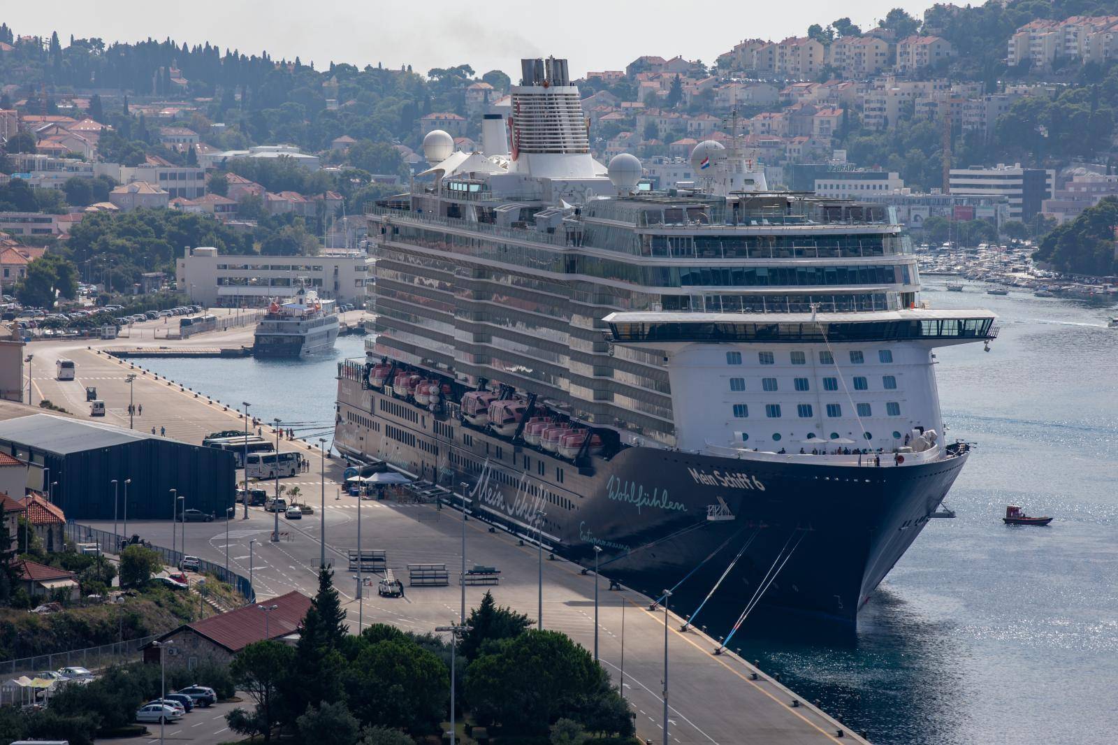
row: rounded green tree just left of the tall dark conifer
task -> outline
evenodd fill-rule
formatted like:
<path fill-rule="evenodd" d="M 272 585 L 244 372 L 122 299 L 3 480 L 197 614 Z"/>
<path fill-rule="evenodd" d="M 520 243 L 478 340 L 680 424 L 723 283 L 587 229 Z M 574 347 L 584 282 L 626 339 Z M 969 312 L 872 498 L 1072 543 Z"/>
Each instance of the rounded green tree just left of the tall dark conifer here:
<path fill-rule="evenodd" d="M 241 711 L 236 717 L 237 724 L 252 727 L 264 736 L 265 743 L 272 739 L 275 725 L 284 720 L 283 711 L 290 710 L 278 706 L 282 691 L 291 686 L 309 682 L 292 679 L 294 663 L 294 649 L 283 642 L 265 640 L 247 645 L 229 666 L 229 672 L 240 690 L 256 701 L 256 710 L 252 714 L 235 709 Z M 234 719 L 228 717 L 233 714 L 227 715 L 230 727 Z"/>

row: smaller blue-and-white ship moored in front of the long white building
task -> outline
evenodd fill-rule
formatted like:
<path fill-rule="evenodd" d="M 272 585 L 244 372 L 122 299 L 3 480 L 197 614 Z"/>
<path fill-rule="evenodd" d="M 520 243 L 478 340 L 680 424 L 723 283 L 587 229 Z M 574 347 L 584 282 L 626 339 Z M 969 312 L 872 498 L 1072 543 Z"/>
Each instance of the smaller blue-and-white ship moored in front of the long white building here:
<path fill-rule="evenodd" d="M 273 300 L 268 304 L 256 326 L 253 356 L 292 359 L 329 352 L 334 348 L 338 329 L 334 301 L 300 287 L 290 301 Z"/>

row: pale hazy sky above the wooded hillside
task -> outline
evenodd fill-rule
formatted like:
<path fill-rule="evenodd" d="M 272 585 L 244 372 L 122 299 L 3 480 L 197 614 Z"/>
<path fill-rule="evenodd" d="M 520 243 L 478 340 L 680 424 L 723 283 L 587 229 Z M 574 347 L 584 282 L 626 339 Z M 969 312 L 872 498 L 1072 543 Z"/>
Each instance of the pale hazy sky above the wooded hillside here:
<path fill-rule="evenodd" d="M 811 23 L 841 15 L 868 28 L 891 8 L 920 18 L 932 0 L 859 0 L 839 11 L 826 0 L 710 2 L 681 0 L 425 0 L 420 6 L 385 0 L 55 0 L 6 2 L 0 21 L 16 34 L 100 37 L 106 43 L 171 37 L 180 45 L 209 41 L 245 54 L 267 50 L 315 68 L 330 62 L 363 67 L 470 64 L 477 75 L 503 69 L 520 77 L 521 57 L 555 55 L 570 60 L 572 77 L 588 69 L 623 69 L 641 55 L 713 63 L 745 38 L 803 36 Z M 717 9 L 716 9 L 717 8 Z"/>

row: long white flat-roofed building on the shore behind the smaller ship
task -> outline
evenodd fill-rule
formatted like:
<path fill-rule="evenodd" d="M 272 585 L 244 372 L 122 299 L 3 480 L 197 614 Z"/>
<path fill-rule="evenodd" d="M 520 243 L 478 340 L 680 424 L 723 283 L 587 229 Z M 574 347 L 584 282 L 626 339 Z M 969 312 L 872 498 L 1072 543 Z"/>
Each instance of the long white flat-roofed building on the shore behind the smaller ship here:
<path fill-rule="evenodd" d="M 217 248 L 187 248 L 178 261 L 179 290 L 209 308 L 253 308 L 272 298 L 290 298 L 299 286 L 321 298 L 359 304 L 372 277 L 372 258 L 347 251 L 319 256 L 219 254 Z"/>

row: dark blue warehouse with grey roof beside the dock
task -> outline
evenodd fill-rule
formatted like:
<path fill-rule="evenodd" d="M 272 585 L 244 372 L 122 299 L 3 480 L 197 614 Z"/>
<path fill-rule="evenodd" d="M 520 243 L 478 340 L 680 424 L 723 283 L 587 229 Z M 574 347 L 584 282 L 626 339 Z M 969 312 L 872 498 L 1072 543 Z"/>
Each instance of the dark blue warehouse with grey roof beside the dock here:
<path fill-rule="evenodd" d="M 72 520 L 112 520 L 114 497 L 122 519 L 168 520 L 172 489 L 184 509 L 218 518 L 234 504 L 231 453 L 111 424 L 20 416 L 0 422 L 0 453 L 27 463 L 28 487 Z"/>

